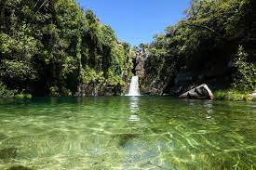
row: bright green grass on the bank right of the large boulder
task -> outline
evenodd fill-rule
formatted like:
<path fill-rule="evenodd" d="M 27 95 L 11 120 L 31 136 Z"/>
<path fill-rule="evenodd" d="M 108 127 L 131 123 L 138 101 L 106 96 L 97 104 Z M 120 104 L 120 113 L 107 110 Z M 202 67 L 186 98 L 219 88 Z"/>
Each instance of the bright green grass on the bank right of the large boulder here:
<path fill-rule="evenodd" d="M 214 98 L 219 100 L 230 100 L 230 101 L 251 101 L 255 100 L 249 96 L 247 92 L 241 92 L 236 89 L 218 90 L 214 93 Z"/>

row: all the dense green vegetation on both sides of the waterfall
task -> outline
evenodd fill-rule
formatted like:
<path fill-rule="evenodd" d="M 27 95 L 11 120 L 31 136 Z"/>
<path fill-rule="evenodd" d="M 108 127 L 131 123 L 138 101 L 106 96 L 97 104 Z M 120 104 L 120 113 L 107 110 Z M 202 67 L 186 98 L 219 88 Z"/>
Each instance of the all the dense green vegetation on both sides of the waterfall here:
<path fill-rule="evenodd" d="M 202 83 L 231 89 L 220 98 L 255 89 L 255 4 L 192 0 L 185 19 L 140 46 L 147 48 L 141 86 L 158 94 Z M 71 96 L 79 85 L 127 84 L 130 46 L 74 0 L 2 0 L 0 7 L 0 97 Z"/>

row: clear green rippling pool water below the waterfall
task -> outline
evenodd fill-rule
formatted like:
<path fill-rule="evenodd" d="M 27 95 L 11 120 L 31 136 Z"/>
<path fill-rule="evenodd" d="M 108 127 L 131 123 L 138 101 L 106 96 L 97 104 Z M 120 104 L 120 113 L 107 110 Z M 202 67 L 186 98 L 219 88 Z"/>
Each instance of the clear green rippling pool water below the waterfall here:
<path fill-rule="evenodd" d="M 255 102 L 2 101 L 0 169 L 253 169 L 255 123 Z"/>

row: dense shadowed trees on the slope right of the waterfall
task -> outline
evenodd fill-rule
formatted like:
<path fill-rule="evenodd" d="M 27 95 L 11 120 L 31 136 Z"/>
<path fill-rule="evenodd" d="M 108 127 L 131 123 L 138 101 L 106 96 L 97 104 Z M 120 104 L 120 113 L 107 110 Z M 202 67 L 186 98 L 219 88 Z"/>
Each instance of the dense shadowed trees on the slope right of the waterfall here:
<path fill-rule="evenodd" d="M 148 46 L 143 86 L 181 93 L 186 85 L 207 83 L 212 89 L 251 92 L 256 88 L 255 4 L 192 0 L 187 17 Z M 191 77 L 178 85 L 177 75 L 182 73 Z"/>

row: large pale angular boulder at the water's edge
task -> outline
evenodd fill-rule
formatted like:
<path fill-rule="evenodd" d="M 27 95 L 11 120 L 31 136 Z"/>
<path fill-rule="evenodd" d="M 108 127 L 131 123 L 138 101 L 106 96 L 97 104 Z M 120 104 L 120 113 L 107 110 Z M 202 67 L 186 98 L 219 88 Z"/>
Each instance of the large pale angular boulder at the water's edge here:
<path fill-rule="evenodd" d="M 213 94 L 210 91 L 208 85 L 199 85 L 192 90 L 183 93 L 179 98 L 191 98 L 191 99 L 213 99 Z"/>

